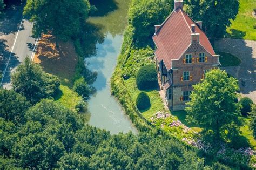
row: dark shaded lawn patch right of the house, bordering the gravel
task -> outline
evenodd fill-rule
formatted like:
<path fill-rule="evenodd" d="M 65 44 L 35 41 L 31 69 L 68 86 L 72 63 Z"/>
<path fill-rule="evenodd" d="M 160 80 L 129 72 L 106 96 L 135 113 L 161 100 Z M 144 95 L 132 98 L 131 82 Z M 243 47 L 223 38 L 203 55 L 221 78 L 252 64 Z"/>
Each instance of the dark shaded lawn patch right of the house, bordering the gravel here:
<path fill-rule="evenodd" d="M 226 52 L 216 52 L 219 57 L 220 64 L 223 67 L 228 67 L 228 66 L 239 66 L 241 64 L 241 59 L 238 58 L 237 56 L 231 55 L 230 53 Z"/>

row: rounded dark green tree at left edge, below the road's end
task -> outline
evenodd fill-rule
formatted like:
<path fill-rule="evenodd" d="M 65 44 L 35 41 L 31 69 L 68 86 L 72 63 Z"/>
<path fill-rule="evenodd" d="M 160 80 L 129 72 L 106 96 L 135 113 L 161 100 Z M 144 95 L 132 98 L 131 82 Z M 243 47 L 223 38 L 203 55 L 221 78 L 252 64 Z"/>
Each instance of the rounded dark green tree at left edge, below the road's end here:
<path fill-rule="evenodd" d="M 14 90 L 0 89 L 0 117 L 15 124 L 24 122 L 25 112 L 30 103 Z"/>

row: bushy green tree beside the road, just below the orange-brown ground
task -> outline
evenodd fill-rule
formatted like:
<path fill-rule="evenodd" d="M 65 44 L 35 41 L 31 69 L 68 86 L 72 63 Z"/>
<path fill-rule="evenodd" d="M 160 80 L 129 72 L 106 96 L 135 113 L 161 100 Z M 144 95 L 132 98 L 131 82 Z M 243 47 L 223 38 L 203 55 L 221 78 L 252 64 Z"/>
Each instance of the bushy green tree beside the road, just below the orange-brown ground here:
<path fill-rule="evenodd" d="M 11 83 L 14 90 L 23 94 L 31 103 L 53 97 L 60 86 L 56 76 L 45 73 L 41 66 L 32 63 L 28 57 L 11 75 Z"/>

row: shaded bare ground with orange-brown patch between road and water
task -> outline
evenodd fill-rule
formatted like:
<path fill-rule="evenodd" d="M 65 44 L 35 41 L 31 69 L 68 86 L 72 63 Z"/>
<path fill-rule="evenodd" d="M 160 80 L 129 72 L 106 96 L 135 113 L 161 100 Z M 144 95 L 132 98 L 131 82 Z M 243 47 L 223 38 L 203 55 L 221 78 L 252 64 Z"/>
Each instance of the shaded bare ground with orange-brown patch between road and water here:
<path fill-rule="evenodd" d="M 59 42 L 57 48 L 55 42 L 52 35 L 43 35 L 33 61 L 39 63 L 45 72 L 58 76 L 63 85 L 72 86 L 78 60 L 75 47 L 72 42 Z"/>

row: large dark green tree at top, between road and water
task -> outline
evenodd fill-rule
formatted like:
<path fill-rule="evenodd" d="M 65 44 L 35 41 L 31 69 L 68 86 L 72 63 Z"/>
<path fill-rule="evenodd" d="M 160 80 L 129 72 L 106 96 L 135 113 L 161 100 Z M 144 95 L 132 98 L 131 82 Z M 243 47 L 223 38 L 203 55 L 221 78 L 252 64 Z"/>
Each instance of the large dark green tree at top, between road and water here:
<path fill-rule="evenodd" d="M 68 40 L 78 36 L 89 10 L 87 0 L 28 0 L 23 14 L 34 23 L 33 35 L 52 32 L 58 42 L 59 38 Z"/>

